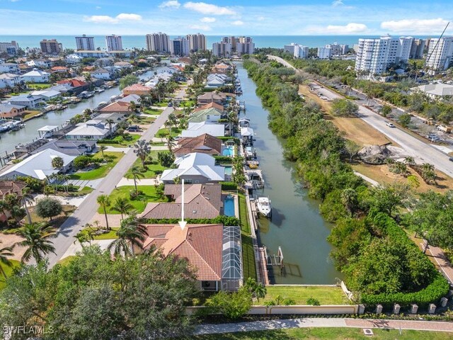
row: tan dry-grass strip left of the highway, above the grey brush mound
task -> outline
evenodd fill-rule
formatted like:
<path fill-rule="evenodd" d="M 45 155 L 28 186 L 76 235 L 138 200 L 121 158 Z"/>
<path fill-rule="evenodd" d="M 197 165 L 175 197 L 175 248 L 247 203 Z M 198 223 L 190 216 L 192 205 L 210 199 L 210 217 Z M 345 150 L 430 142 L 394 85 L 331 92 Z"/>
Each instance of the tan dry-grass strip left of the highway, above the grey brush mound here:
<path fill-rule="evenodd" d="M 316 94 L 312 94 L 309 91 L 308 86 L 299 85 L 299 94 L 303 94 L 307 100 L 318 103 L 323 112 L 326 113 L 324 118 L 331 120 L 340 131 L 344 132 L 344 137 L 348 138 L 348 140 L 352 140 L 362 146 L 384 145 L 392 142 L 385 135 L 360 118 L 333 117 L 332 115 L 329 115 L 328 113 L 331 111 L 331 102 L 323 101 L 319 96 L 316 96 Z M 393 142 L 392 144 L 395 145 Z"/>

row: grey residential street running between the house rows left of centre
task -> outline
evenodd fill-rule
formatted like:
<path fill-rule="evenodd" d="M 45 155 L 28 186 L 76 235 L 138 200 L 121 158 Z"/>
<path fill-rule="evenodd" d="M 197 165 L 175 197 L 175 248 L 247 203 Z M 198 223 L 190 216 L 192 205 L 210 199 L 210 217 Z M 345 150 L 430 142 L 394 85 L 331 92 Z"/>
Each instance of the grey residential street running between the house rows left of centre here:
<path fill-rule="evenodd" d="M 164 112 L 159 115 L 159 118 L 157 118 L 149 127 L 149 129 L 144 132 L 142 137 L 140 137 L 140 140 L 151 140 L 151 138 L 154 137 L 161 125 L 166 122 L 170 113 L 173 113 L 173 108 L 166 108 Z M 137 156 L 134 154 L 133 149 L 130 149 L 122 157 L 122 159 L 120 159 L 120 162 L 118 162 L 115 167 L 110 170 L 108 176 L 98 184 L 96 189 L 90 195 L 88 195 L 84 202 L 81 203 L 79 208 L 63 223 L 55 239 L 52 240 L 54 242 L 55 252 L 57 254 L 50 254 L 50 266 L 54 266 L 55 263 L 57 263 L 59 259 L 62 258 L 69 246 L 74 243 L 74 235 L 82 229 L 82 226 L 90 222 L 90 220 L 96 214 L 96 210 L 98 210 L 98 203 L 96 202 L 96 198 L 98 198 L 99 195 L 110 194 L 117 183 L 125 176 L 125 173 L 127 172 L 127 170 L 129 170 L 130 166 L 135 162 L 136 159 Z"/>

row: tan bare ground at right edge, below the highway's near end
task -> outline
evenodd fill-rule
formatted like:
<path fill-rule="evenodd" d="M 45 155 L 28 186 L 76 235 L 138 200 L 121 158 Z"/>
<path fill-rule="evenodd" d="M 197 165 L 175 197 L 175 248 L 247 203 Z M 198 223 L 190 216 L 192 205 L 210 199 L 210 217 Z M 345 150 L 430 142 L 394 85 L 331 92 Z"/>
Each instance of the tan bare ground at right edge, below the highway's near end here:
<path fill-rule="evenodd" d="M 394 174 L 393 172 L 389 171 L 389 166 L 387 165 L 354 164 L 352 165 L 352 169 L 382 184 L 395 182 L 408 183 L 407 177 Z M 411 174 L 416 176 L 418 181 L 420 182 L 420 186 L 415 189 L 415 191 L 419 193 L 430 190 L 442 193 L 453 188 L 453 179 L 440 171 L 436 171 L 437 186 L 430 186 L 425 183 L 425 181 L 423 181 L 420 175 L 418 175 L 415 171 L 413 171 L 412 169 L 408 170 L 411 171 Z"/>

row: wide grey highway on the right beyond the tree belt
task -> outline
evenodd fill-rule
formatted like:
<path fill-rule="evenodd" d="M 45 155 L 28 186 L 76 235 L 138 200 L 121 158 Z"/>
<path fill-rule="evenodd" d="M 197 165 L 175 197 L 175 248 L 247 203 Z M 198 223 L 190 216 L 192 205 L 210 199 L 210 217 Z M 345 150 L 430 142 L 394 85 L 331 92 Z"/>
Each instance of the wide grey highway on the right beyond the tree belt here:
<path fill-rule="evenodd" d="M 294 69 L 286 60 L 282 60 L 280 57 L 269 56 L 286 67 Z M 323 88 L 320 90 L 321 93 L 328 98 L 343 98 L 336 92 L 329 89 Z M 448 176 L 453 177 L 453 163 L 449 161 L 449 157 L 444 152 L 440 151 L 436 147 L 418 140 L 417 138 L 409 135 L 406 131 L 398 128 L 389 128 L 386 123 L 389 121 L 381 115 L 374 113 L 373 111 L 365 108 L 365 106 L 359 106 L 359 116 L 366 123 L 371 125 L 373 128 L 382 132 L 386 137 L 394 140 L 400 145 L 408 156 L 414 157 L 418 162 L 430 163 L 435 166 L 436 169 L 442 171 Z"/>

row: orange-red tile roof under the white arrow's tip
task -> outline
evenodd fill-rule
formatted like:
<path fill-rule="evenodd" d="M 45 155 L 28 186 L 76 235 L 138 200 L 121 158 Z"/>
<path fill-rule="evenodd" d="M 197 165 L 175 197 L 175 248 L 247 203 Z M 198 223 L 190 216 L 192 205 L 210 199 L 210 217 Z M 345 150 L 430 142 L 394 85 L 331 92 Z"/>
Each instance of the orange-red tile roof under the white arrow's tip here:
<path fill-rule="evenodd" d="M 164 256 L 187 259 L 196 268 L 198 280 L 222 280 L 222 225 L 144 225 L 150 235 L 166 231 L 164 237 L 147 237 L 143 249 L 160 246 Z"/>

